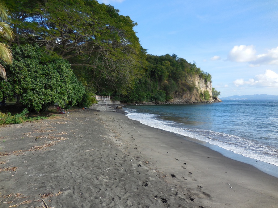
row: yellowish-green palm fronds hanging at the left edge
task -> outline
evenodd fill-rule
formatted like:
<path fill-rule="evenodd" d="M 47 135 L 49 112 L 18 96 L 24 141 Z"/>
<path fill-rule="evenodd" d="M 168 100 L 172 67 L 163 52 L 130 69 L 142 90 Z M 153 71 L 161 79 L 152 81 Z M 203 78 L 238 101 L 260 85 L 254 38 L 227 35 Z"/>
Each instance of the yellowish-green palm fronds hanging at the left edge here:
<path fill-rule="evenodd" d="M 0 2 L 0 36 L 8 41 L 13 40 L 13 32 L 10 26 L 6 23 L 8 21 L 8 11 L 3 2 Z M 0 42 L 0 59 L 6 63 L 12 63 L 12 51 L 6 43 Z M 0 76 L 6 80 L 6 70 L 0 64 Z"/>

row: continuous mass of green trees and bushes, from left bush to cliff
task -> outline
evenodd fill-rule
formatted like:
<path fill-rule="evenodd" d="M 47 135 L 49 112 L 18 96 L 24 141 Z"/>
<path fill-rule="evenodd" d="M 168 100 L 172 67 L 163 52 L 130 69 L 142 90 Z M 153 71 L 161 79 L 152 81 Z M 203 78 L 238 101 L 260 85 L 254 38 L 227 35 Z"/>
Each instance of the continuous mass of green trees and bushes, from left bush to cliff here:
<path fill-rule="evenodd" d="M 207 84 L 210 74 L 175 54 L 147 55 L 133 29 L 137 23 L 111 5 L 96 0 L 3 2 L 10 11 L 14 40 L 8 44 L 14 61 L 0 63 L 7 72 L 7 80 L 0 78 L 0 100 L 17 97 L 39 112 L 55 102 L 90 106 L 94 93 L 129 103 L 165 102 L 185 92 L 208 99 L 188 80 L 197 76 Z"/>

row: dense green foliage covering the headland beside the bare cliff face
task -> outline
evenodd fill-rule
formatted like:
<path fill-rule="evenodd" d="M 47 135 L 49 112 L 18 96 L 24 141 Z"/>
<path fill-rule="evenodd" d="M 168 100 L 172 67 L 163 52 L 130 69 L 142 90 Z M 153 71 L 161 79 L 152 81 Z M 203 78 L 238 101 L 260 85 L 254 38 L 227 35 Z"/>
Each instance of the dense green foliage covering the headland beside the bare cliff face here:
<path fill-rule="evenodd" d="M 129 90 L 128 96 L 123 96 L 120 100 L 128 103 L 165 102 L 171 100 L 174 95 L 193 92 L 196 89 L 195 85 L 187 82 L 189 77 L 196 75 L 205 80 L 205 83 L 211 82 L 211 75 L 196 67 L 195 62 L 188 63 L 175 54 L 147 55 L 147 61 L 142 78 Z"/>

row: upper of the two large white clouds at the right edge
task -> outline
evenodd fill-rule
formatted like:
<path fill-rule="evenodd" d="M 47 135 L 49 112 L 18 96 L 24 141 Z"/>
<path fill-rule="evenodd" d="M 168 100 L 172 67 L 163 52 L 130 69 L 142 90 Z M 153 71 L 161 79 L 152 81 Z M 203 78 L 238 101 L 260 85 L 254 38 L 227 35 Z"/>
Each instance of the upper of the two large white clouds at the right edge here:
<path fill-rule="evenodd" d="M 278 47 L 272 48 L 266 54 L 256 55 L 256 50 L 251 46 L 234 46 L 228 54 L 228 59 L 235 62 L 248 62 L 250 67 L 257 67 L 260 64 L 278 65 Z"/>

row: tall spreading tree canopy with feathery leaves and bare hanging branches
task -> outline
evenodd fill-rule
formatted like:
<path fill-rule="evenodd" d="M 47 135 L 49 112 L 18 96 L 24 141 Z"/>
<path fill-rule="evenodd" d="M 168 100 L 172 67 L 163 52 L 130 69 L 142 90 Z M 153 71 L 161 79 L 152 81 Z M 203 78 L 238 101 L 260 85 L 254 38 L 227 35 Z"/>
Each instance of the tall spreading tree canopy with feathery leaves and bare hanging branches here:
<path fill-rule="evenodd" d="M 18 45 L 37 43 L 85 73 L 84 85 L 126 93 L 141 76 L 146 51 L 113 6 L 96 0 L 7 0 Z"/>

